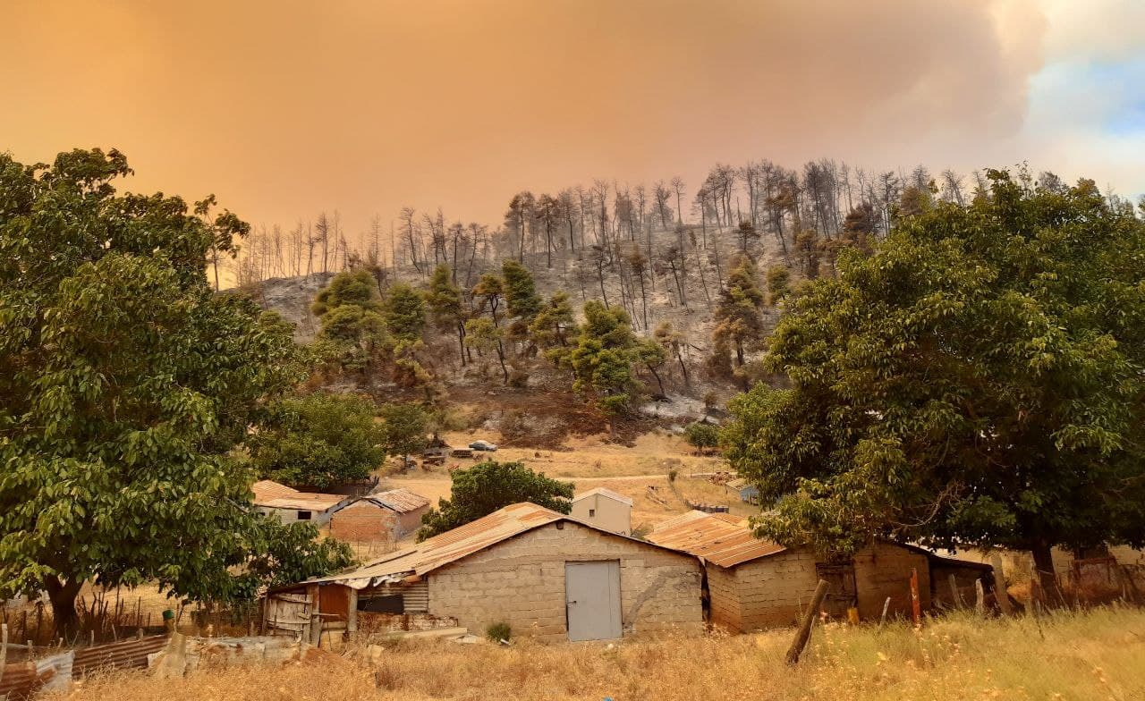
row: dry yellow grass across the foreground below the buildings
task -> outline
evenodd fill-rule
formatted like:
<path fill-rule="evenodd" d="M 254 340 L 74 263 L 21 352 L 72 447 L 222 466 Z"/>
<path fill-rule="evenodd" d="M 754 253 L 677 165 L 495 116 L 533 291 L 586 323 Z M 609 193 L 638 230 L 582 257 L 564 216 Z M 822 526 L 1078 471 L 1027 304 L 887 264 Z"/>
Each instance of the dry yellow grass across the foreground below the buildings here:
<path fill-rule="evenodd" d="M 204 670 L 185 679 L 142 674 L 89 679 L 76 701 L 308 701 L 329 699 L 1140 699 L 1145 613 L 1123 607 L 981 621 L 815 630 L 795 669 L 790 631 L 759 636 L 511 647 L 444 641 L 389 646 L 377 664 L 323 655 L 284 668 Z M 60 696 L 56 696 L 58 699 Z"/>

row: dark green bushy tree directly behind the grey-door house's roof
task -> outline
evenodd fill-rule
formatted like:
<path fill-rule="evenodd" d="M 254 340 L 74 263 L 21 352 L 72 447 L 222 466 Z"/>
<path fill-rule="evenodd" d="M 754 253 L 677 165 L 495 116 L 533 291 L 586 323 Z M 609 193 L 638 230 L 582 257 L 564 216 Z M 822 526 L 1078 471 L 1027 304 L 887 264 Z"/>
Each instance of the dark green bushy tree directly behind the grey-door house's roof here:
<path fill-rule="evenodd" d="M 449 499 L 421 517 L 418 539 L 424 541 L 475 521 L 520 502 L 568 513 L 572 509 L 572 485 L 545 476 L 523 463 L 487 460 L 468 470 L 455 470 Z"/>

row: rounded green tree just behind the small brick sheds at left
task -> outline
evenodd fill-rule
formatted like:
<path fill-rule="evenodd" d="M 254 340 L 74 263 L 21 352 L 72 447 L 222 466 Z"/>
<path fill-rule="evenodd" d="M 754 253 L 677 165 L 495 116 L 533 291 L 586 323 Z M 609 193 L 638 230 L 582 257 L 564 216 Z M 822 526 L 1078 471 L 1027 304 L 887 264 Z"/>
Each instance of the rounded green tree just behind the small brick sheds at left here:
<path fill-rule="evenodd" d="M 247 440 L 259 475 L 323 491 L 370 476 L 386 457 L 386 433 L 370 399 L 311 394 L 276 403 Z"/>

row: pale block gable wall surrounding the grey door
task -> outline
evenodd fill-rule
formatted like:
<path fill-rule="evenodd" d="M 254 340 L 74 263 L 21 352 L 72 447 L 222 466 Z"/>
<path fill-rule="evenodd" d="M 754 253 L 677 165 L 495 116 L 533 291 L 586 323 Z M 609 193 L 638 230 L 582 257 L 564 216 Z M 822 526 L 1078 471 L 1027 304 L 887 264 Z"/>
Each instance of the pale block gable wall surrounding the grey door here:
<path fill-rule="evenodd" d="M 695 558 L 576 523 L 556 526 L 510 538 L 427 575 L 429 613 L 452 616 L 474 635 L 505 622 L 515 636 L 567 640 L 564 562 L 619 560 L 625 635 L 701 628 Z"/>

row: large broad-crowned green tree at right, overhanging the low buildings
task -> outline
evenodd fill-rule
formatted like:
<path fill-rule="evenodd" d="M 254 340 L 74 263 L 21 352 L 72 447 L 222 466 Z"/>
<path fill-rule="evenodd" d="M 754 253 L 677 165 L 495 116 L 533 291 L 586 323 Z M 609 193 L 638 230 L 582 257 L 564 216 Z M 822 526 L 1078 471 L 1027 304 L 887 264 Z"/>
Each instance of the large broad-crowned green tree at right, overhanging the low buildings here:
<path fill-rule="evenodd" d="M 1145 542 L 1145 225 L 1092 182 L 906 218 L 789 307 L 727 456 L 761 530 L 1029 550 Z"/>

